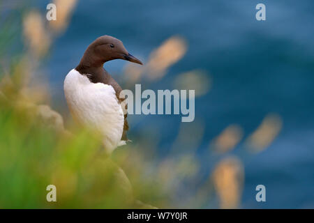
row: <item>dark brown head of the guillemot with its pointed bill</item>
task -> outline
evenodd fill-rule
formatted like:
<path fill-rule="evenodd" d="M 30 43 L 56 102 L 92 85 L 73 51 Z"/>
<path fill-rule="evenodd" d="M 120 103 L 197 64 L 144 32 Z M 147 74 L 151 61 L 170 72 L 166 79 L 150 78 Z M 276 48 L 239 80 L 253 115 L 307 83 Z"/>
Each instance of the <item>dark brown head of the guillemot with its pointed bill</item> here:
<path fill-rule="evenodd" d="M 143 64 L 135 56 L 128 53 L 126 47 L 117 38 L 112 36 L 100 36 L 97 38 L 84 53 L 81 63 L 89 66 L 102 66 L 107 61 L 123 59 L 133 63 Z"/>

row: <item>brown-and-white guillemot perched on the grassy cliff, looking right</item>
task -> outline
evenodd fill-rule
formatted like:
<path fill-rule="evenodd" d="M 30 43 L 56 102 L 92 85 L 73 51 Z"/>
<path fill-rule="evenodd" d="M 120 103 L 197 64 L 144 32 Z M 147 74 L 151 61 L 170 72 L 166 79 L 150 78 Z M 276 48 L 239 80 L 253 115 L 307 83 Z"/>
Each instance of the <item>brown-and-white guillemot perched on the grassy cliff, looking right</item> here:
<path fill-rule="evenodd" d="M 80 64 L 68 72 L 63 83 L 66 102 L 75 120 L 98 131 L 107 153 L 126 144 L 127 114 L 121 102 L 121 86 L 103 68 L 114 59 L 142 62 L 128 53 L 121 40 L 100 36 L 87 47 Z"/>

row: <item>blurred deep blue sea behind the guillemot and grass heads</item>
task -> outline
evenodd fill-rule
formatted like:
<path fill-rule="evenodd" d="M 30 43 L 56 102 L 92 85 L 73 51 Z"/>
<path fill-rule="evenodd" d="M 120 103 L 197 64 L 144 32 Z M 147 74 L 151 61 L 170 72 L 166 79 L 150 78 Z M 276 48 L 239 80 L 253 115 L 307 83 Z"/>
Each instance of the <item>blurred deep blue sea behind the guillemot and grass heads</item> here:
<path fill-rule="evenodd" d="M 266 5 L 266 21 L 255 20 L 257 3 Z M 46 4 L 40 7 L 45 10 Z M 170 36 L 182 36 L 188 52 L 150 87 L 172 89 L 174 77 L 188 70 L 210 75 L 209 93 L 195 100 L 195 122 L 204 125 L 197 148 L 202 174 L 209 174 L 220 159 L 204 155 L 211 139 L 232 123 L 241 125 L 246 138 L 274 112 L 283 128 L 269 148 L 249 155 L 241 141 L 232 151 L 245 168 L 241 208 L 314 208 L 313 12 L 313 0 L 79 1 L 46 64 L 54 108 L 67 112 L 63 79 L 98 36 L 119 38 L 140 59 Z M 111 61 L 105 68 L 119 82 L 126 63 Z M 131 138 L 158 134 L 160 157 L 170 150 L 181 125 L 180 116 L 128 119 Z M 267 188 L 267 202 L 255 201 L 259 184 Z"/>

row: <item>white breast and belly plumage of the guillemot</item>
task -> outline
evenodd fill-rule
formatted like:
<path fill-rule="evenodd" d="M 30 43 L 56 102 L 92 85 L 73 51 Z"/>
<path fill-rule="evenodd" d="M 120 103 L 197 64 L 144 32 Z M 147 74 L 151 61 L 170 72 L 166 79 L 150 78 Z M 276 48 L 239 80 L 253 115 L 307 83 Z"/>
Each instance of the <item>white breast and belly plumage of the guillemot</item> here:
<path fill-rule="evenodd" d="M 63 87 L 70 112 L 103 135 L 106 151 L 112 152 L 124 144 L 124 112 L 112 86 L 91 83 L 86 75 L 73 69 L 66 75 Z"/>

